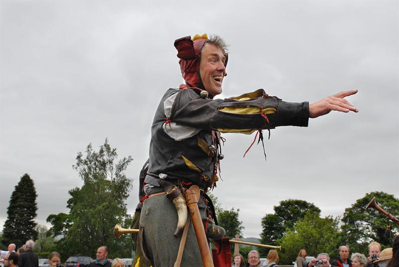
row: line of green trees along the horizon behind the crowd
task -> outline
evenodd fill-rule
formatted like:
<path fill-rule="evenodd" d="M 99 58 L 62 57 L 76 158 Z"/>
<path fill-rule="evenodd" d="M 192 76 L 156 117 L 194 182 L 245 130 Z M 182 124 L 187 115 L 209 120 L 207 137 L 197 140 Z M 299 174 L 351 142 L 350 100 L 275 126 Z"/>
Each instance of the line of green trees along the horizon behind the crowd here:
<path fill-rule="evenodd" d="M 115 239 L 113 227 L 121 223 L 129 228 L 132 216 L 127 214 L 126 199 L 132 188 L 132 180 L 124 171 L 132 161 L 131 156 L 118 160 L 116 148 L 105 140 L 98 151 L 91 144 L 85 155 L 77 154 L 73 168 L 83 180 L 82 187 L 69 190 L 69 213 L 50 214 L 47 222 L 51 228 L 34 222 L 37 212 L 36 191 L 33 180 L 24 174 L 12 192 L 3 227 L 1 243 L 21 246 L 28 239 L 36 240 L 35 252 L 46 257 L 58 251 L 66 260 L 71 255 L 93 256 L 101 245 L 107 245 L 111 258 L 130 258 L 132 242 L 128 235 Z M 300 249 L 316 256 L 327 252 L 332 259 L 338 247 L 348 244 L 352 252 L 367 252 L 371 241 L 378 241 L 383 248 L 392 245 L 399 227 L 391 224 L 391 237 L 386 236 L 387 219 L 374 209 L 365 210 L 367 203 L 376 197 L 378 204 L 392 214 L 399 215 L 399 200 L 385 192 L 370 192 L 345 210 L 342 218 L 320 216 L 321 210 L 305 200 L 283 200 L 261 220 L 260 243 L 282 246 L 279 252 L 281 264 L 291 264 Z M 242 237 L 239 209 L 223 209 L 218 199 L 210 194 L 215 206 L 218 223 L 230 239 L 236 234 Z M 240 246 L 245 257 L 253 248 Z M 257 248 L 265 258 L 268 250 Z M 231 246 L 233 252 L 233 246 Z"/>

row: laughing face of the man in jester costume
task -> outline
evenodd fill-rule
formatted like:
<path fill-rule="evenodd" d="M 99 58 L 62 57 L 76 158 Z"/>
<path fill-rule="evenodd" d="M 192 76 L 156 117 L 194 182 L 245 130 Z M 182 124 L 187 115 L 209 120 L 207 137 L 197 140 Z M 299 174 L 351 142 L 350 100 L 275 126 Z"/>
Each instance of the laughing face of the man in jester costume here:
<path fill-rule="evenodd" d="M 202 47 L 200 76 L 203 87 L 212 96 L 222 92 L 221 84 L 226 74 L 225 60 L 226 57 L 217 46 L 205 43 Z"/>

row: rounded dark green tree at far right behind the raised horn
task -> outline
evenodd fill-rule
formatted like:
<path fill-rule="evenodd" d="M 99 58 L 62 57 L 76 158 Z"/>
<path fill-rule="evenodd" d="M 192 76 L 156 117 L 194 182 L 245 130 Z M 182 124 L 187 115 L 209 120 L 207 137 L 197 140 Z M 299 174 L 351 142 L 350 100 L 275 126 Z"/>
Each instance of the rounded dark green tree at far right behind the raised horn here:
<path fill-rule="evenodd" d="M 399 199 L 385 192 L 367 193 L 352 207 L 346 208 L 342 218 L 342 240 L 343 244 L 348 244 L 353 252 L 366 253 L 367 246 L 372 241 L 378 241 L 383 249 L 391 247 L 393 238 L 399 234 L 398 224 L 391 222 L 392 235 L 387 238 L 385 236 L 387 217 L 376 209 L 365 209 L 373 197 L 376 197 L 377 204 L 385 211 L 399 215 Z"/>

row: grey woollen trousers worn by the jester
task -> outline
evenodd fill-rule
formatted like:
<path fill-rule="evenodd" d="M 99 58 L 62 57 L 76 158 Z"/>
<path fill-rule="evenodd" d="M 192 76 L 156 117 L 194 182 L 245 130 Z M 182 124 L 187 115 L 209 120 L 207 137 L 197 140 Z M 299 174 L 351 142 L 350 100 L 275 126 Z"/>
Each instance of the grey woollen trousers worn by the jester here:
<path fill-rule="evenodd" d="M 143 250 L 153 267 L 174 266 L 182 236 L 176 238 L 173 235 L 177 221 L 176 209 L 166 195 L 150 197 L 144 202 L 140 216 L 143 246 L 145 246 Z M 203 267 L 192 224 L 189 228 L 181 266 Z"/>

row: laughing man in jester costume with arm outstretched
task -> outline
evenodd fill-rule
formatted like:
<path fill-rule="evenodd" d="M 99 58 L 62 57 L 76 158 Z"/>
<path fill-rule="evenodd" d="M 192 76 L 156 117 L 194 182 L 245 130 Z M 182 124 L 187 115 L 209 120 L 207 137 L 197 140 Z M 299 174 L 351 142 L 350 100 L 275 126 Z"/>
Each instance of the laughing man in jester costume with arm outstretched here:
<path fill-rule="evenodd" d="M 208 38 L 203 34 L 177 39 L 175 47 L 186 83 L 166 91 L 152 124 L 150 157 L 142 171 L 141 204 L 135 215 L 140 227 L 139 258 L 141 263 L 148 261 L 153 267 L 172 267 L 181 257 L 180 266 L 202 267 L 200 248 L 190 222 L 191 212 L 187 223 L 184 192 L 198 186 L 198 208 L 206 238 L 220 240 L 225 231 L 217 226 L 206 195 L 218 181 L 219 163 L 223 159 L 220 133 L 257 132 L 263 140 L 262 130 L 307 127 L 309 118 L 330 111 L 358 112 L 344 99 L 357 90 L 341 92 L 311 105 L 285 102 L 267 95 L 263 89 L 228 99 L 213 99 L 222 92 L 227 75 L 225 42 L 219 36 Z M 188 230 L 181 252 L 185 224 Z"/>

